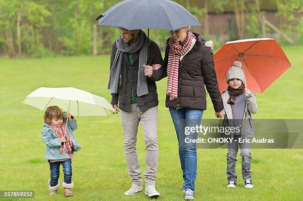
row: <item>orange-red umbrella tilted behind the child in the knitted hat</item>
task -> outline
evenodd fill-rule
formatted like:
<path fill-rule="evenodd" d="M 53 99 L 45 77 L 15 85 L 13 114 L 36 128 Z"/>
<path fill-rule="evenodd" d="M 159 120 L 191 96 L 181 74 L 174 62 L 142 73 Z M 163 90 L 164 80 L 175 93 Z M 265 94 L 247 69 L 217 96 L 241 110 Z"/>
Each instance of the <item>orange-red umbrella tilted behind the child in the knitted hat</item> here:
<path fill-rule="evenodd" d="M 221 93 L 227 88 L 225 75 L 235 60 L 242 62 L 246 86 L 262 93 L 291 64 L 274 39 L 246 39 L 226 42 L 215 54 L 214 65 Z"/>

